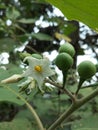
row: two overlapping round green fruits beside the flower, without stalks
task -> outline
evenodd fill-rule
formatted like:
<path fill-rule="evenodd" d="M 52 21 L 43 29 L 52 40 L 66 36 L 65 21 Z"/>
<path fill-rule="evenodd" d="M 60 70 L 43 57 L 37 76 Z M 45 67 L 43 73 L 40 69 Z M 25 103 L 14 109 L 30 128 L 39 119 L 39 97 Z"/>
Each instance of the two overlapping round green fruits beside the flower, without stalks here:
<path fill-rule="evenodd" d="M 75 55 L 75 49 L 70 43 L 65 43 L 59 47 L 59 54 L 55 59 L 56 66 L 61 71 L 68 71 L 73 65 L 73 56 Z"/>

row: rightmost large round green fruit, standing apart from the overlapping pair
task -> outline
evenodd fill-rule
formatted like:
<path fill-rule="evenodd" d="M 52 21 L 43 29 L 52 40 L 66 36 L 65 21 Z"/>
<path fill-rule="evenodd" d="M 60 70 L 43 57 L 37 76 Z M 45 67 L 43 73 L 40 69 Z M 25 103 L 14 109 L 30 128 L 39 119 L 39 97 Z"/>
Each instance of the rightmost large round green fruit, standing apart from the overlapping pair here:
<path fill-rule="evenodd" d="M 91 61 L 83 61 L 78 65 L 78 73 L 81 79 L 89 79 L 96 73 L 96 66 Z"/>

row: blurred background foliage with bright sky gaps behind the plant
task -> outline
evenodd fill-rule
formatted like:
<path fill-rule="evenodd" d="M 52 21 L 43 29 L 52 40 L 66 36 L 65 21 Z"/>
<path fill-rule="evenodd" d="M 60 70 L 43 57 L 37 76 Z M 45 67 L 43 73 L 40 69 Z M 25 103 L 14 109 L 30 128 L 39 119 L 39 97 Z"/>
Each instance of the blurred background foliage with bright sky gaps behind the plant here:
<path fill-rule="evenodd" d="M 15 73 L 22 73 L 21 52 L 48 54 L 51 60 L 52 55 L 54 58 L 56 56 L 53 52 L 57 52 L 60 44 L 65 41 L 70 42 L 76 50 L 73 69 L 76 69 L 79 56 L 87 55 L 97 64 L 98 34 L 88 26 L 75 20 L 69 21 L 45 0 L 0 0 L 0 80 Z M 92 81 L 98 82 L 97 74 Z M 76 83 L 76 74 L 69 72 L 68 88 L 71 91 L 75 91 Z M 18 92 L 17 84 L 9 86 Z M 82 89 L 80 96 L 89 94 L 92 89 L 94 88 Z M 70 99 L 63 93 L 59 95 L 57 89 L 51 94 L 47 90 L 45 96 L 40 95 L 37 90 L 24 96 L 47 126 L 71 104 Z M 63 123 L 58 130 L 78 130 L 79 124 L 76 122 L 73 126 L 73 121 L 89 119 L 95 114 L 98 114 L 97 97 L 81 107 L 70 117 L 68 124 Z M 98 116 L 94 117 L 95 122 L 97 119 Z M 37 129 L 25 104 L 5 88 L 0 88 L 0 121 L 4 123 L 0 123 L 2 130 L 26 129 L 27 126 L 30 130 L 31 126 L 34 130 Z M 85 122 L 82 121 L 82 125 L 83 123 Z M 89 127 L 89 124 L 85 125 Z"/>

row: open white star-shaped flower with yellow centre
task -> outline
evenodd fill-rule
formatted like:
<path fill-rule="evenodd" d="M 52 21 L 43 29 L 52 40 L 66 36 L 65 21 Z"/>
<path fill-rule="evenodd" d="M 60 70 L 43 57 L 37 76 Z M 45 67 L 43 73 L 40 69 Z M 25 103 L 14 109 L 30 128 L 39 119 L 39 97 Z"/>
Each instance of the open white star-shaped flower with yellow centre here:
<path fill-rule="evenodd" d="M 48 76 L 54 75 L 54 71 L 50 69 L 50 61 L 47 58 L 36 59 L 34 57 L 28 56 L 25 61 L 28 61 L 29 67 L 23 73 L 24 77 L 33 77 L 41 90 L 42 83 L 44 79 Z"/>

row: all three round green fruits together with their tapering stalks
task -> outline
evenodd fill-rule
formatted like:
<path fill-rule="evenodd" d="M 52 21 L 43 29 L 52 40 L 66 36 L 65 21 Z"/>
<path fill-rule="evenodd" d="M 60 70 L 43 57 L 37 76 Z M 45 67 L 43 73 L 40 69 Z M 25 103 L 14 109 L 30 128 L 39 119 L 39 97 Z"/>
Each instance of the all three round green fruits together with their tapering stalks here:
<path fill-rule="evenodd" d="M 59 54 L 55 59 L 55 64 L 62 71 L 63 86 L 64 86 L 67 72 L 73 65 L 73 57 L 75 55 L 75 49 L 70 43 L 65 43 L 59 47 L 58 52 Z M 88 60 L 83 61 L 78 65 L 77 71 L 80 76 L 80 81 L 76 93 L 78 93 L 82 83 L 85 80 L 95 75 L 96 68 L 97 67 L 95 66 L 95 64 Z"/>

